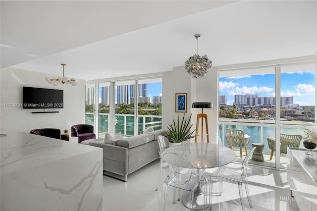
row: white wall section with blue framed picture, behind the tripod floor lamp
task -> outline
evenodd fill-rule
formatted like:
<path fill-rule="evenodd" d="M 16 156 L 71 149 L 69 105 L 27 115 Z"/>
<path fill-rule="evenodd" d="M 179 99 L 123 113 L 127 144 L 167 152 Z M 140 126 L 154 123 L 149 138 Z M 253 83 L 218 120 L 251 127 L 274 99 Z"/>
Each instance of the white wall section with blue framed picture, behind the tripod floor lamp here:
<path fill-rule="evenodd" d="M 191 122 L 193 129 L 196 128 L 197 114 L 201 113 L 200 108 L 192 108 L 194 102 L 210 102 L 213 104 L 212 109 L 204 109 L 204 113 L 208 116 L 209 133 L 218 132 L 218 74 L 217 68 L 212 67 L 207 76 L 195 79 L 185 71 L 184 66 L 174 67 L 173 71 L 163 72 L 162 76 L 162 128 L 166 128 L 167 124 L 172 123 L 173 119 L 177 119 L 183 113 L 175 112 L 175 93 L 187 93 L 187 113 L 186 116 L 192 114 Z M 199 124 L 199 137 L 201 137 L 201 121 Z M 204 121 L 204 135 L 206 135 Z M 200 140 L 200 138 L 198 139 Z M 210 140 L 211 141 L 211 140 Z M 193 139 L 191 140 L 193 142 Z"/>

